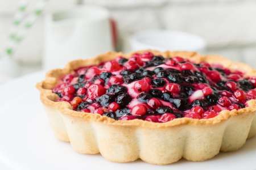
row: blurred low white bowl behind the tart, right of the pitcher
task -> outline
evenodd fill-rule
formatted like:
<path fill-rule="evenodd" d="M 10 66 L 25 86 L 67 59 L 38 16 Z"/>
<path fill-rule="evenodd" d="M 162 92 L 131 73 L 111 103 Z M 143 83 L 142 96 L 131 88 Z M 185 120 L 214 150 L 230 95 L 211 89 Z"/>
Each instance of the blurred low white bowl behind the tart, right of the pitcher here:
<path fill-rule="evenodd" d="M 179 31 L 141 31 L 131 37 L 132 50 L 192 50 L 202 52 L 206 42 L 199 36 Z"/>

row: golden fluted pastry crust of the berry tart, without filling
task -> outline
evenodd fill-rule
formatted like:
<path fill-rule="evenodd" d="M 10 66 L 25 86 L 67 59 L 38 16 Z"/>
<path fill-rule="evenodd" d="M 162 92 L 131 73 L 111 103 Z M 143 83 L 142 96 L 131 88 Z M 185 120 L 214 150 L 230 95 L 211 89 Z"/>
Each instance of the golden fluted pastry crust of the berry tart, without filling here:
<path fill-rule="evenodd" d="M 231 70 L 238 69 L 245 71 L 246 75 L 256 76 L 256 71 L 250 66 L 221 56 L 156 50 L 134 53 L 144 51 L 167 58 L 181 56 L 194 62 L 221 63 Z M 73 111 L 65 101 L 56 102 L 58 97 L 51 89 L 61 76 L 82 66 L 97 65 L 117 56 L 129 58 L 132 54 L 108 52 L 91 59 L 77 59 L 69 62 L 64 69 L 49 71 L 46 79 L 36 85 L 57 138 L 71 142 L 77 152 L 100 152 L 114 162 L 131 162 L 141 158 L 152 164 L 170 164 L 181 158 L 201 161 L 212 158 L 220 151 L 237 150 L 247 137 L 256 134 L 256 100 L 248 101 L 246 108 L 222 111 L 214 118 L 197 120 L 184 117 L 161 124 L 143 120 L 113 120 L 100 114 Z"/>

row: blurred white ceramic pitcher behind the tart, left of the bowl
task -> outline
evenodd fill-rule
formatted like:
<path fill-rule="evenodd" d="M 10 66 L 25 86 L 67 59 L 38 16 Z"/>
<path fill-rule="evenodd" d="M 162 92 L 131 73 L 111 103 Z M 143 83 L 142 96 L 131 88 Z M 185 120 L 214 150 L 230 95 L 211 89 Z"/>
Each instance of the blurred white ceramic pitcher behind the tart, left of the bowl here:
<path fill-rule="evenodd" d="M 48 14 L 45 31 L 44 69 L 113 50 L 109 12 L 102 7 L 83 6 Z"/>

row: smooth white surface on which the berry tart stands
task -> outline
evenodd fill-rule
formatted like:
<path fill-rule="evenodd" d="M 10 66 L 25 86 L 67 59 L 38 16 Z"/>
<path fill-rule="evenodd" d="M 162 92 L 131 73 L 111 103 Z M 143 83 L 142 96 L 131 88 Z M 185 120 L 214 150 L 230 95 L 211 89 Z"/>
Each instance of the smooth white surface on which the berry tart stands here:
<path fill-rule="evenodd" d="M 222 153 L 205 162 L 181 160 L 165 166 L 141 160 L 112 163 L 100 155 L 77 154 L 69 143 L 53 137 L 35 89 L 35 82 L 42 78 L 42 73 L 33 74 L 0 87 L 0 162 L 10 169 L 256 169 L 256 138 L 239 151 Z"/>

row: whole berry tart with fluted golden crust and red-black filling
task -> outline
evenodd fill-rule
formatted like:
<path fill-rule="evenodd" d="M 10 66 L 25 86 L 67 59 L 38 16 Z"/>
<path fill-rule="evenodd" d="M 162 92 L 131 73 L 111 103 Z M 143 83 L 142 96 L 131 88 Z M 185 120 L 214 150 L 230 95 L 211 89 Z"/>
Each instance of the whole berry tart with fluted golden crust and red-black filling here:
<path fill-rule="evenodd" d="M 170 164 L 256 134 L 256 71 L 220 56 L 144 50 L 69 62 L 37 84 L 58 139 L 113 162 Z"/>

